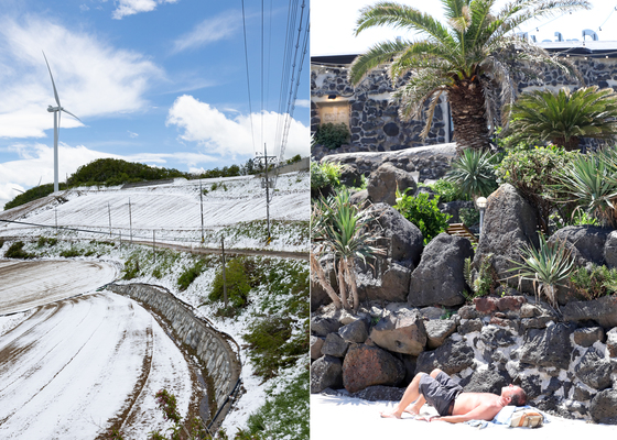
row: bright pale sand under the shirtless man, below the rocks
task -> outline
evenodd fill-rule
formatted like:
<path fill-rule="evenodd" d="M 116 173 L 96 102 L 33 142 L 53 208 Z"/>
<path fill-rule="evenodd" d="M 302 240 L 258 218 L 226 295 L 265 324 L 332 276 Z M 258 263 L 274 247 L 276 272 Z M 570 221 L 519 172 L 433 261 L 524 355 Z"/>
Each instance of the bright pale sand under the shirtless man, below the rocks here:
<path fill-rule="evenodd" d="M 367 402 L 350 397 L 311 395 L 311 440 L 325 439 L 584 439 L 593 436 L 611 439 L 617 426 L 586 424 L 550 417 L 541 428 L 508 428 L 491 426 L 478 429 L 468 425 L 414 420 L 411 415 L 402 419 L 386 419 L 379 414 L 389 410 L 393 403 Z M 425 414 L 436 414 L 429 406 Z"/>

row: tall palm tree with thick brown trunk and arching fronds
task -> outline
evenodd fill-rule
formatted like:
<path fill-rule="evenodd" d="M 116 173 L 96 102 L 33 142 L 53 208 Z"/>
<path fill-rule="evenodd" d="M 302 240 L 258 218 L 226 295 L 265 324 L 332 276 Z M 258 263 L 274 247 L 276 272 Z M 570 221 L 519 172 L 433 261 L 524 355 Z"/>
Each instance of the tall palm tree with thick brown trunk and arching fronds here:
<path fill-rule="evenodd" d="M 419 118 L 429 100 L 425 138 L 442 95 L 451 103 L 457 148 L 486 148 L 495 128 L 499 94 L 512 102 L 515 66 L 526 75 L 540 63 L 575 74 L 572 65 L 517 37 L 517 26 L 572 9 L 589 9 L 587 0 L 513 0 L 499 12 L 497 0 L 441 0 L 447 25 L 412 7 L 379 2 L 360 10 L 356 35 L 366 29 L 390 25 L 420 33 L 415 41 L 387 41 L 372 46 L 351 64 L 349 80 L 359 84 L 376 67 L 390 64 L 392 81 L 411 73 L 393 98 L 402 118 Z M 508 120 L 502 114 L 502 123 Z"/>

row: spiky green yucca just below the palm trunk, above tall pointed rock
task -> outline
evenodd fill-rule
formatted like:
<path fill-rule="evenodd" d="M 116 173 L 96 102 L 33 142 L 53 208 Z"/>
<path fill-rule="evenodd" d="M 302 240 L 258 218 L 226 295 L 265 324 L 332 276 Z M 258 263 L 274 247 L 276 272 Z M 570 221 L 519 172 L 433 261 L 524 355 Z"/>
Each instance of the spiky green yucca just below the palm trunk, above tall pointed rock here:
<path fill-rule="evenodd" d="M 445 179 L 459 186 L 461 193 L 474 200 L 480 196 L 487 197 L 497 189 L 497 177 L 489 152 L 464 150 L 452 162 L 452 169 Z"/>

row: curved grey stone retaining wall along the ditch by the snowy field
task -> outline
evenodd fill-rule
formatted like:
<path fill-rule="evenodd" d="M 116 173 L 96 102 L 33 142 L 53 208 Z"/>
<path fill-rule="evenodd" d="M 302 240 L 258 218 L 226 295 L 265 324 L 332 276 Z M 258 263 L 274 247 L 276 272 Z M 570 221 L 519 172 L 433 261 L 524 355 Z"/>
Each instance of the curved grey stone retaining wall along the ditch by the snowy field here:
<path fill-rule="evenodd" d="M 111 284 L 107 289 L 145 304 L 171 323 L 176 337 L 195 350 L 206 366 L 214 382 L 217 407 L 223 407 L 241 371 L 238 354 L 229 344 L 230 338 L 212 328 L 207 321 L 197 318 L 191 306 L 162 287 L 147 284 Z M 225 414 L 221 413 L 219 417 L 225 417 Z"/>

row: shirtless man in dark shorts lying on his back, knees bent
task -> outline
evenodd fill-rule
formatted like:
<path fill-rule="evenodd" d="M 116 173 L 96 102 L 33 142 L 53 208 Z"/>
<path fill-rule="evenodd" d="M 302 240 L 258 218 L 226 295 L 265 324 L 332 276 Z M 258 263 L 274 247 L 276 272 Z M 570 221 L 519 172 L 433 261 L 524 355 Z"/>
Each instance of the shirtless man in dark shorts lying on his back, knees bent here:
<path fill-rule="evenodd" d="M 459 424 L 467 420 L 492 420 L 507 405 L 524 405 L 527 394 L 515 385 L 501 388 L 500 396 L 492 393 L 463 393 L 461 385 L 436 369 L 430 375 L 418 373 L 394 410 L 381 413 L 381 417 L 400 419 L 403 413 L 416 416 L 426 402 L 437 410 L 440 417 L 421 417 L 419 420 Z"/>

